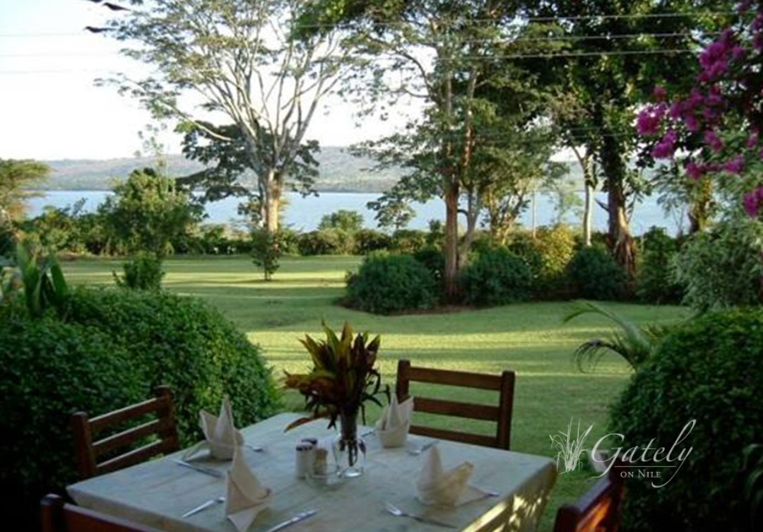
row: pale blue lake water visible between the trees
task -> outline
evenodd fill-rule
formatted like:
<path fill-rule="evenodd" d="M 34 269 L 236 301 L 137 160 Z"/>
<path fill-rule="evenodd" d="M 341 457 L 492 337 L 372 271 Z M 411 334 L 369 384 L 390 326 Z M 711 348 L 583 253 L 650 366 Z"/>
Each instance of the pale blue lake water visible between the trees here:
<path fill-rule="evenodd" d="M 29 200 L 30 216 L 37 216 L 46 205 L 63 208 L 72 205 L 80 198 L 85 198 L 83 211 L 95 211 L 98 205 L 111 195 L 111 192 L 86 191 L 86 190 L 53 190 L 44 192 L 44 195 Z M 301 197 L 295 193 L 288 193 L 288 206 L 285 208 L 285 224 L 301 231 L 311 231 L 320 223 L 324 214 L 330 214 L 340 209 L 359 211 L 363 214 L 366 227 L 376 227 L 374 211 L 369 211 L 365 204 L 378 198 L 378 194 L 369 193 L 340 193 L 323 192 L 319 196 Z M 582 198 L 582 192 L 581 192 Z M 606 195 L 597 193 L 600 201 L 606 201 Z M 226 198 L 220 202 L 207 205 L 207 222 L 214 224 L 226 224 L 240 222 L 242 219 L 237 215 L 237 198 Z M 536 224 L 546 225 L 555 221 L 555 197 L 549 194 L 539 193 L 536 197 Z M 430 220 L 444 220 L 445 205 L 442 200 L 435 199 L 430 202 L 412 204 L 416 211 L 416 218 L 409 224 L 411 229 L 426 229 Z M 567 220 L 571 224 L 579 224 L 580 220 L 574 216 Z M 532 209 L 528 208 L 521 217 L 521 222 L 526 227 L 532 225 Z M 594 207 L 594 229 L 606 231 L 607 213 L 599 206 Z M 656 225 L 665 227 L 670 234 L 678 231 L 678 223 L 672 218 L 665 216 L 662 208 L 657 205 L 656 198 L 646 198 L 644 202 L 636 205 L 631 221 L 633 234 L 641 234 Z"/>

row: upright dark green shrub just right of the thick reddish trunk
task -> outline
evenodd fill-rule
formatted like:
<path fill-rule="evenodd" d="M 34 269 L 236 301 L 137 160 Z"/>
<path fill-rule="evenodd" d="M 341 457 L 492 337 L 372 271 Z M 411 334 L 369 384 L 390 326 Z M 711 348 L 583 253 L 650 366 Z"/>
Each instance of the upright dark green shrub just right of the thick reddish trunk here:
<path fill-rule="evenodd" d="M 649 303 L 680 303 L 684 288 L 675 282 L 673 263 L 678 240 L 662 227 L 652 227 L 641 237 L 639 267 L 636 269 L 636 295 Z"/>

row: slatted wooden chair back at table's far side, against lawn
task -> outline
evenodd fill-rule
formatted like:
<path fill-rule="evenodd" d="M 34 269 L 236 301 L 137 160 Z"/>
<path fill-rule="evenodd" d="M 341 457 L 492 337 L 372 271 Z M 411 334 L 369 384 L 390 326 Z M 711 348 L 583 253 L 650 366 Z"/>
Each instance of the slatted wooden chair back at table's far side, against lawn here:
<path fill-rule="evenodd" d="M 500 376 L 482 373 L 449 371 L 446 369 L 430 369 L 414 367 L 409 360 L 398 362 L 398 382 L 395 392 L 398 401 L 404 401 L 410 396 L 410 382 L 427 382 L 435 385 L 461 386 L 499 392 L 498 405 L 477 405 L 461 401 L 449 401 L 414 396 L 414 411 L 455 416 L 457 418 L 481 419 L 496 421 L 497 430 L 494 437 L 483 434 L 471 434 L 457 430 L 444 430 L 422 425 L 410 426 L 410 434 L 420 434 L 443 440 L 456 440 L 465 443 L 475 443 L 485 447 L 509 449 L 511 441 L 511 411 L 513 408 L 514 381 L 513 371 L 504 371 Z"/>

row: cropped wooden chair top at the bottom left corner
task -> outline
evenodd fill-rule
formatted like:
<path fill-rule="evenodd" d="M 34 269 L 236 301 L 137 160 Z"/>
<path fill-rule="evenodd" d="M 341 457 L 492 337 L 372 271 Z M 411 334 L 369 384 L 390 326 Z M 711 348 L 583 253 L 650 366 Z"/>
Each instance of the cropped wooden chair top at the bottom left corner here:
<path fill-rule="evenodd" d="M 46 495 L 40 506 L 42 532 L 159 532 L 155 528 L 69 505 L 58 495 Z"/>

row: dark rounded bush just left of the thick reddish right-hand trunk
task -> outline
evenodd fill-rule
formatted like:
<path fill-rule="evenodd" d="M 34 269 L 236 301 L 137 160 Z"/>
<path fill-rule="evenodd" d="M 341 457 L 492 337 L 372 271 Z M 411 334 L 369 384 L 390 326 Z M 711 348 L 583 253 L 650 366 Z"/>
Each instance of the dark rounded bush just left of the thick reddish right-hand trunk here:
<path fill-rule="evenodd" d="M 581 247 L 567 266 L 573 297 L 613 301 L 626 295 L 626 273 L 603 246 Z"/>

